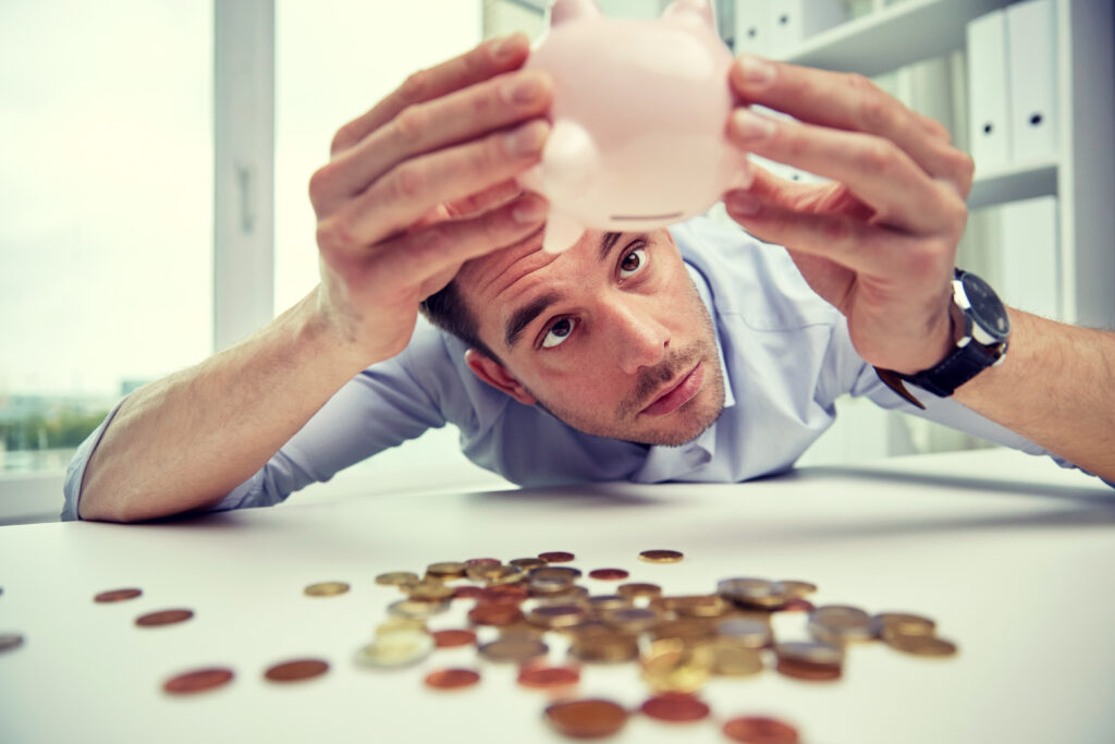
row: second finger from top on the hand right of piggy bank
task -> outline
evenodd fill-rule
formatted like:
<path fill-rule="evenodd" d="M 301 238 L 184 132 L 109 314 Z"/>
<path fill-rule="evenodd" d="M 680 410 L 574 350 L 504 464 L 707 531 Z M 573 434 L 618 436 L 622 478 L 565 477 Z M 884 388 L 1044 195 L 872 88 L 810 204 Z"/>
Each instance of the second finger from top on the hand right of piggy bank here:
<path fill-rule="evenodd" d="M 883 224 L 921 234 L 962 230 L 966 210 L 958 194 L 888 139 L 775 120 L 748 108 L 736 109 L 728 135 L 756 155 L 846 184 Z"/>

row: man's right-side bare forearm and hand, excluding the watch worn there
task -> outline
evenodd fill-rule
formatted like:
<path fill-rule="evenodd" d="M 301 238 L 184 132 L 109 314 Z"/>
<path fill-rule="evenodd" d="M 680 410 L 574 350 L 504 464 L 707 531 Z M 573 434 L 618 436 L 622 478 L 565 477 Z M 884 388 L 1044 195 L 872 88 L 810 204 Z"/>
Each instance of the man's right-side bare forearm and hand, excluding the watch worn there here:
<path fill-rule="evenodd" d="M 954 345 L 957 243 L 967 222 L 971 158 L 939 123 L 859 75 L 741 56 L 731 85 L 745 107 L 728 136 L 740 147 L 832 182 L 799 184 L 756 168 L 725 197 L 728 214 L 785 245 L 813 289 L 847 318 L 869 364 L 903 374 L 935 366 Z M 1020 311 L 1002 365 L 957 389 L 985 417 L 1074 464 L 1115 480 L 1115 337 Z M 924 393 L 923 395 L 929 395 Z"/>

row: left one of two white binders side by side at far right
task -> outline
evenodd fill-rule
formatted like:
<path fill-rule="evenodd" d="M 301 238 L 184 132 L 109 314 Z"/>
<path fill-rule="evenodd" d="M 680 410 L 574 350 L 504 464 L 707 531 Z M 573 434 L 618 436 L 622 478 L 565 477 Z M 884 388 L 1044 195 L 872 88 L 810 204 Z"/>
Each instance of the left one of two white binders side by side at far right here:
<path fill-rule="evenodd" d="M 968 23 L 968 142 L 977 176 L 1011 161 L 1007 17 L 996 10 Z"/>

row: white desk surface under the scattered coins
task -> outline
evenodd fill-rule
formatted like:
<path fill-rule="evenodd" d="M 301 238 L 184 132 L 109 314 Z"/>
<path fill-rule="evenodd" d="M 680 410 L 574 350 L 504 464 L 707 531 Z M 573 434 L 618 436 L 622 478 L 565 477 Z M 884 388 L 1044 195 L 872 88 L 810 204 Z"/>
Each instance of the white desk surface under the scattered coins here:
<path fill-rule="evenodd" d="M 855 647 L 837 683 L 769 669 L 714 679 L 704 693 L 709 719 L 632 716 L 609 741 L 724 742 L 717 722 L 745 714 L 792 722 L 811 743 L 1115 741 L 1115 493 L 1048 461 L 993 451 L 740 485 L 336 501 L 320 497 L 329 487 L 312 486 L 312 503 L 295 494 L 274 509 L 186 521 L 0 529 L 0 634 L 26 638 L 0 653 L 0 741 L 566 741 L 542 721 L 544 697 L 471 650 L 438 650 L 395 671 L 352 661 L 399 598 L 377 574 L 546 550 L 576 553 L 585 570 L 627 568 L 631 581 L 673 595 L 709 593 L 734 576 L 805 579 L 818 584 L 817 603 L 924 613 L 960 647 L 947 660 Z M 651 548 L 686 559 L 640 562 Z M 326 580 L 351 590 L 303 595 Z M 144 595 L 93 601 L 122 587 Z M 134 624 L 172 607 L 196 615 Z M 454 610 L 429 625 L 462 622 Z M 801 615 L 776 629 L 806 636 Z M 307 656 L 327 659 L 329 673 L 285 686 L 263 679 L 270 665 Z M 235 679 L 193 696 L 162 692 L 174 674 L 210 665 Z M 462 665 L 482 671 L 478 686 L 424 688 L 428 670 Z M 585 667 L 579 692 L 630 708 L 647 696 L 630 664 Z"/>

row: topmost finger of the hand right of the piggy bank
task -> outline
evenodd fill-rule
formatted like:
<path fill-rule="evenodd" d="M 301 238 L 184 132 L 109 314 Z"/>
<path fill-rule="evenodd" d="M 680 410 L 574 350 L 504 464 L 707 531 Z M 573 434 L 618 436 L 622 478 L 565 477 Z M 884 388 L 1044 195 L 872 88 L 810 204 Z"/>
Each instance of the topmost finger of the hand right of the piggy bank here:
<path fill-rule="evenodd" d="M 971 190 L 971 158 L 949 144 L 944 128 L 928 124 L 862 75 L 740 55 L 730 79 L 749 104 L 811 124 L 878 135 L 896 144 L 930 176 L 951 183 L 962 199 Z"/>

